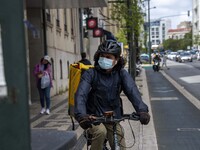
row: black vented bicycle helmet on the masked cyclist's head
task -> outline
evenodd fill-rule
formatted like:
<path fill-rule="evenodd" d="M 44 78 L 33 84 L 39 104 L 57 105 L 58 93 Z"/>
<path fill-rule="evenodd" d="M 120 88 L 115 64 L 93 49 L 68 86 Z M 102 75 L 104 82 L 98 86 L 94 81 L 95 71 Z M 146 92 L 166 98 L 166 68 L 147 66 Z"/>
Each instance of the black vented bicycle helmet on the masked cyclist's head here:
<path fill-rule="evenodd" d="M 119 57 L 121 54 L 121 47 L 117 41 L 106 40 L 99 45 L 97 53 L 113 54 Z"/>

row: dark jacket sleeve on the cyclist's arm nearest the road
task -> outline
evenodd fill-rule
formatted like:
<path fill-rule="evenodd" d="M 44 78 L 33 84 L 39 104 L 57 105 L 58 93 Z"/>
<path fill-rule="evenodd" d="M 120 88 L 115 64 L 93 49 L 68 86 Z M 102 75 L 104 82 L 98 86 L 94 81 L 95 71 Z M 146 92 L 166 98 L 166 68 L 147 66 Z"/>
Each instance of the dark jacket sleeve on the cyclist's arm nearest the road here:
<path fill-rule="evenodd" d="M 130 74 L 125 69 L 122 69 L 120 75 L 122 78 L 122 90 L 131 101 L 136 112 L 148 112 L 148 106 L 142 101 L 140 92 Z"/>

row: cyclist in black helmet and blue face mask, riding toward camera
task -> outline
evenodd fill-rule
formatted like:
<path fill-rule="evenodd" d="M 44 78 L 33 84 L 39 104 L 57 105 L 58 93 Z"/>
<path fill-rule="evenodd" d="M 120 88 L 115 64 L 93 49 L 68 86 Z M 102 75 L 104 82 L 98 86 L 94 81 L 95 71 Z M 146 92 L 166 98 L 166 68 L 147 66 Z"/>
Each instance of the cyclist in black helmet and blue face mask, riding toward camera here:
<path fill-rule="evenodd" d="M 141 124 L 148 124 L 150 115 L 148 106 L 142 101 L 140 92 L 130 74 L 120 61 L 121 47 L 116 41 L 106 40 L 98 47 L 94 56 L 94 68 L 86 70 L 81 76 L 75 94 L 75 119 L 80 126 L 92 134 L 91 150 L 102 150 L 105 138 L 113 147 L 113 126 L 111 124 L 91 124 L 95 117 L 107 111 L 113 111 L 116 118 L 121 118 L 123 107 L 120 92 L 123 91 L 140 115 Z M 122 126 L 117 124 L 120 144 L 125 146 Z M 107 133 L 107 134 L 105 134 Z"/>

